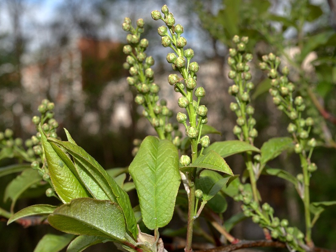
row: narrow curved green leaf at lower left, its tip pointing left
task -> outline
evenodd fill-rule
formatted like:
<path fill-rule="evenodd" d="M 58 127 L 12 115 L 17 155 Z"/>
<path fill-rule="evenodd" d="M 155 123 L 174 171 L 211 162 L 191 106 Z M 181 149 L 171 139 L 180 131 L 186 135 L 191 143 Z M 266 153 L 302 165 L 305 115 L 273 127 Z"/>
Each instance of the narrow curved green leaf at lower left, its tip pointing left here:
<path fill-rule="evenodd" d="M 52 213 L 57 207 L 47 204 L 32 205 L 21 209 L 20 211 L 14 213 L 7 221 L 7 225 L 13 221 L 32 215 L 48 215 Z"/>

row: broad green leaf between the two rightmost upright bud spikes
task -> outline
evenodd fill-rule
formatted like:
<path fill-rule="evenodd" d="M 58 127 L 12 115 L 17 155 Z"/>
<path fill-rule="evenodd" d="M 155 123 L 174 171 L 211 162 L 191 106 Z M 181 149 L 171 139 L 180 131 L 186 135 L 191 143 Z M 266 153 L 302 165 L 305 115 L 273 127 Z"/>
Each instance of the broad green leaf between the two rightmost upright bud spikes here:
<path fill-rule="evenodd" d="M 274 137 L 264 142 L 260 148 L 260 163 L 264 166 L 269 160 L 278 157 L 283 151 L 292 149 L 293 139 L 290 137 Z"/>

